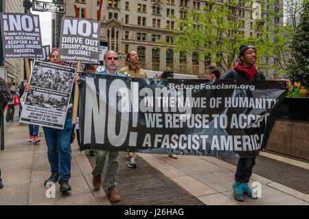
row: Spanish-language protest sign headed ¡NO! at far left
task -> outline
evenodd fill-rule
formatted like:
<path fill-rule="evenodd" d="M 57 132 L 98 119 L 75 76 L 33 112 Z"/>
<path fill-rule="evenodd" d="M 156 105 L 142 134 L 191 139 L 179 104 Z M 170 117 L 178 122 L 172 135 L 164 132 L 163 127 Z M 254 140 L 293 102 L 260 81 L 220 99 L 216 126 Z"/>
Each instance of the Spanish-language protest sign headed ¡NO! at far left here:
<path fill-rule="evenodd" d="M 38 15 L 0 13 L 0 19 L 5 58 L 43 58 Z"/>

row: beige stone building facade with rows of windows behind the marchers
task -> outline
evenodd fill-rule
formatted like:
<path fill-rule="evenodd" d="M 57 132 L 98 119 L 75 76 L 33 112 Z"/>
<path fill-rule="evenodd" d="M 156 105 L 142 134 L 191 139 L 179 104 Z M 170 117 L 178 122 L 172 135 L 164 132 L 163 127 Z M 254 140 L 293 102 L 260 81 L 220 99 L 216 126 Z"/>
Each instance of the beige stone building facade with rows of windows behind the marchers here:
<path fill-rule="evenodd" d="M 79 17 L 97 20 L 101 0 L 65 0 L 66 14 L 64 16 L 75 17 L 76 5 Z M 183 16 L 184 8 L 194 8 L 203 12 L 207 4 L 205 0 L 102 0 L 100 13 L 101 40 L 108 43 L 108 49 L 114 49 L 119 53 L 119 67 L 126 65 L 126 54 L 135 50 L 139 54 L 139 65 L 147 70 L 164 71 L 171 69 L 175 73 L 187 73 L 192 69 L 192 74 L 198 78 L 208 75 L 207 65 L 215 62 L 198 61 L 192 56 L 186 57 L 187 64 L 179 65 L 180 53 L 173 52 L 158 40 L 172 41 L 172 31 L 165 30 L 176 27 L 170 19 L 170 15 Z M 223 4 L 229 0 L 214 1 Z M 244 7 L 240 19 L 244 21 L 242 32 L 247 36 L 256 34 L 251 26 L 253 20 L 247 19 L 251 8 Z M 203 58 L 201 58 L 203 60 Z"/>

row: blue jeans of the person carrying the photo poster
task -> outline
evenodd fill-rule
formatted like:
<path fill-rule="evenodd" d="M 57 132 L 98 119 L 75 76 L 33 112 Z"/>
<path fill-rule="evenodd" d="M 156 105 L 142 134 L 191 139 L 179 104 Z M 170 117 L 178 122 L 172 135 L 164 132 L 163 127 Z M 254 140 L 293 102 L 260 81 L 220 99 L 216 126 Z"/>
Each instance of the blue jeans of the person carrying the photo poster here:
<path fill-rule="evenodd" d="M 63 130 L 43 127 L 47 144 L 47 157 L 51 172 L 58 173 L 58 182 L 68 181 L 71 177 L 72 117 L 65 119 Z"/>

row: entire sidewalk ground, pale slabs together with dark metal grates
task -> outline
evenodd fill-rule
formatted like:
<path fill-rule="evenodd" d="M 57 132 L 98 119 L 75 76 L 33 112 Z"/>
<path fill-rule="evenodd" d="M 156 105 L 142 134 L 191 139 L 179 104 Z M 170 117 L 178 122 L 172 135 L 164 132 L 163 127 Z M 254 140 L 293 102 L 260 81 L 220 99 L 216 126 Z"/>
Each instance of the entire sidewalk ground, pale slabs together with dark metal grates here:
<path fill-rule="evenodd" d="M 50 175 L 43 129 L 39 129 L 40 143 L 28 143 L 28 127 L 17 122 L 17 115 L 13 123 L 5 122 L 5 150 L 0 152 L 4 184 L 0 189 L 0 205 L 309 205 L 309 163 L 268 152 L 261 152 L 249 183 L 253 189 L 260 189 L 261 197 L 245 198 L 244 202 L 236 201 L 231 192 L 237 159 L 198 156 L 171 159 L 167 154 L 139 153 L 137 168 L 128 168 L 126 152 L 121 152 L 118 189 L 122 199 L 111 203 L 106 190 L 93 190 L 94 157 L 88 151 L 80 152 L 77 141 L 71 144 L 72 190 L 61 194 L 56 183 L 53 198 L 50 188 L 43 185 Z M 290 170 L 293 174 L 289 178 L 286 174 Z M 264 174 L 269 177 L 263 177 Z M 299 187 L 285 183 L 294 181 L 295 175 Z"/>

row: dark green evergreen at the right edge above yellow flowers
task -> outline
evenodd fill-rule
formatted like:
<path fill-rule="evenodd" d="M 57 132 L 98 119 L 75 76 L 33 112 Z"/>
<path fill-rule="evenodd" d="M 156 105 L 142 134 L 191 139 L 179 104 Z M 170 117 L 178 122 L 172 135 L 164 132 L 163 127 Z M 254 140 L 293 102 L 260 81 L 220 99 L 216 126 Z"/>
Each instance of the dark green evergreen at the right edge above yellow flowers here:
<path fill-rule="evenodd" d="M 299 25 L 290 45 L 293 56 L 288 64 L 287 78 L 292 82 L 301 82 L 309 87 L 309 2 L 304 1 Z"/>

